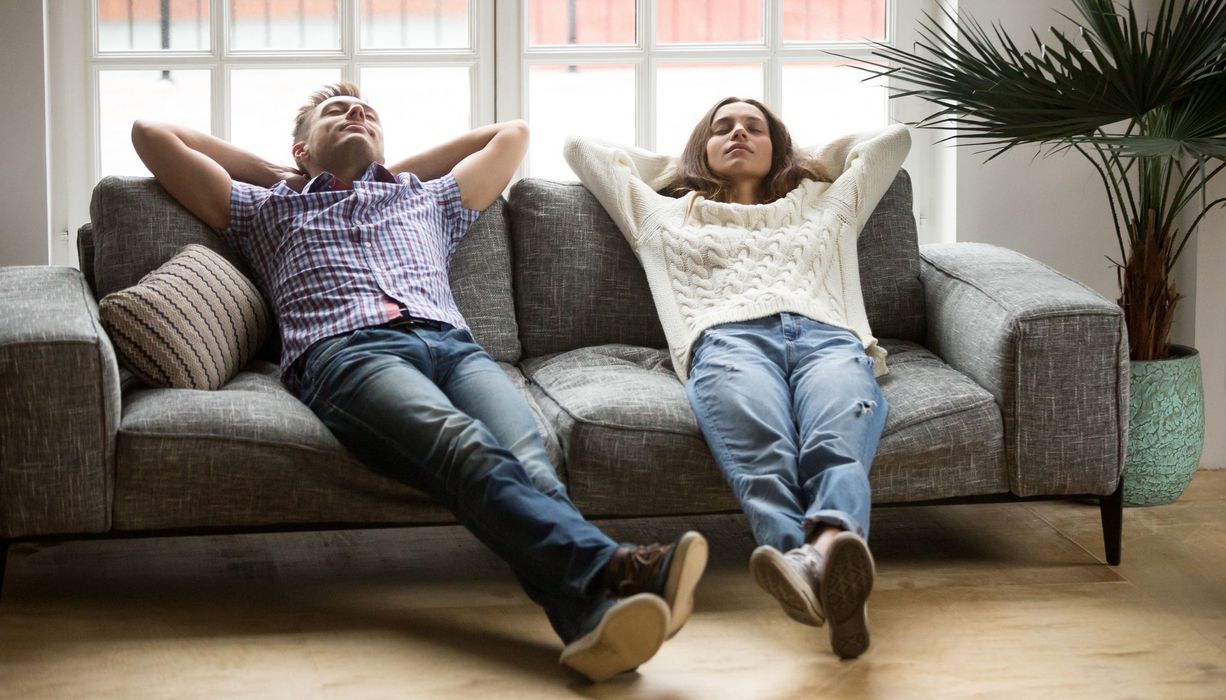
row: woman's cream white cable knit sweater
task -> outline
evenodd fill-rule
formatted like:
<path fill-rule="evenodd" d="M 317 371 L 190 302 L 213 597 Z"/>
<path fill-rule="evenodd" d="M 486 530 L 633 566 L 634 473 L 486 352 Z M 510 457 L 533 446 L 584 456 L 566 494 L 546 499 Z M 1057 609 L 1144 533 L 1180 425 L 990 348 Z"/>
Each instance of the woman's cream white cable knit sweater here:
<path fill-rule="evenodd" d="M 565 156 L 639 256 L 685 381 L 702 331 L 783 311 L 852 331 L 877 376 L 885 374 L 885 349 L 864 313 L 856 239 L 910 148 L 905 126 L 839 139 L 812 150 L 834 183 L 804 180 L 765 205 L 660 195 L 674 162 L 641 148 L 571 137 Z"/>

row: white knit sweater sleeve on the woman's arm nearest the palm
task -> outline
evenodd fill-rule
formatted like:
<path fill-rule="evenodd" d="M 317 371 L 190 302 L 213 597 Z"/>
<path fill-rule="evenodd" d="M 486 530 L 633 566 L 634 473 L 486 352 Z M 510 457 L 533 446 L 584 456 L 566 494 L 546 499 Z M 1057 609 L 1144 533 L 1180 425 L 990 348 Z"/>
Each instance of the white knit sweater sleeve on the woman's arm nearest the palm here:
<path fill-rule="evenodd" d="M 813 152 L 835 177 L 830 194 L 855 212 L 857 232 L 868 223 L 910 150 L 911 132 L 897 124 L 880 131 L 843 136 Z"/>

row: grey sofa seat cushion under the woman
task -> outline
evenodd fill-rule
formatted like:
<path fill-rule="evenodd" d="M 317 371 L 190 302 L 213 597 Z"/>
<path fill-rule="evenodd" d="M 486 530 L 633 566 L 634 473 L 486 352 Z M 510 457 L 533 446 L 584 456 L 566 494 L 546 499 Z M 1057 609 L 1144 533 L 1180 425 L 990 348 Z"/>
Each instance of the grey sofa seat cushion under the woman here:
<path fill-rule="evenodd" d="M 870 482 L 878 503 L 1008 493 L 1000 412 L 937 356 L 885 340 L 896 357 Z M 896 356 L 895 356 L 896 353 Z M 588 516 L 738 510 L 663 349 L 598 346 L 524 362 Z"/>

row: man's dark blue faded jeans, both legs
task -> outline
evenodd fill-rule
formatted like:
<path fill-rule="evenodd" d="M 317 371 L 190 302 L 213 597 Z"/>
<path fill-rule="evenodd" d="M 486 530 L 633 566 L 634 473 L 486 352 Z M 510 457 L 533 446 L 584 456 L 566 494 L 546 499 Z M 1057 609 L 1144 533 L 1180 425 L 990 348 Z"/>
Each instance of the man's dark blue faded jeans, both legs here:
<path fill-rule="evenodd" d="M 445 505 L 510 564 L 566 642 L 612 601 L 587 595 L 617 543 L 580 515 L 532 413 L 468 331 L 378 326 L 327 338 L 299 397 L 371 470 Z"/>

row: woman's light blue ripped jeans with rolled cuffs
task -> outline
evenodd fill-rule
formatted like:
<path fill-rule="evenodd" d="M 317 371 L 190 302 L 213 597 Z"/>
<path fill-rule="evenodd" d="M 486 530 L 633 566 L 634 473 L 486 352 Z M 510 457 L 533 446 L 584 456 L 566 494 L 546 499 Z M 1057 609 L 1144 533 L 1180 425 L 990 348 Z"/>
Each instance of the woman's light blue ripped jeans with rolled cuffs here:
<path fill-rule="evenodd" d="M 820 523 L 868 538 L 868 470 L 889 407 L 853 333 L 780 314 L 709 329 L 685 384 L 759 544 Z"/>

